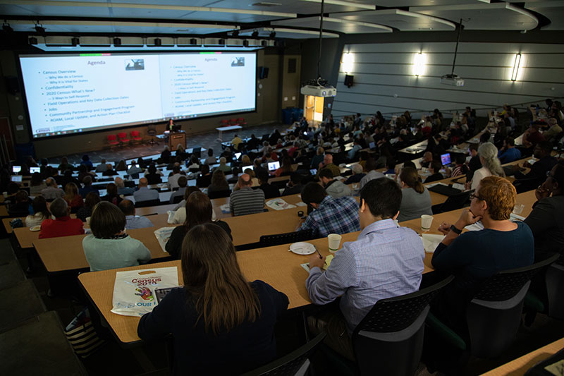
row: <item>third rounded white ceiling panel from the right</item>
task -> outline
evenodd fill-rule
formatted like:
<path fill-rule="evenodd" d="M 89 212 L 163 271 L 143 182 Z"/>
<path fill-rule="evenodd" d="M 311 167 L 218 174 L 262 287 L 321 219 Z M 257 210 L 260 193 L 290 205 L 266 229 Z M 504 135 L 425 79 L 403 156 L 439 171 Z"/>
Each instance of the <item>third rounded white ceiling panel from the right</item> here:
<path fill-rule="evenodd" d="M 319 28 L 320 17 L 294 18 L 291 20 L 273 21 L 271 25 L 291 26 L 295 28 Z M 353 20 L 343 20 L 343 18 L 323 18 L 323 29 L 345 32 L 347 34 L 358 34 L 361 32 L 393 32 L 391 28 L 375 23 L 364 23 Z"/>

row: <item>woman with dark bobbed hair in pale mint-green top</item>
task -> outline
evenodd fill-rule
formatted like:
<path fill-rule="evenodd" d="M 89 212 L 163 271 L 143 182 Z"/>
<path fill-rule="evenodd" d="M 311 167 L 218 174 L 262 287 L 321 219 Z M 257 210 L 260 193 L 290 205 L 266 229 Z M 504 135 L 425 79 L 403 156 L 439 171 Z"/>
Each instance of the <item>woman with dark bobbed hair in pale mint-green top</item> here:
<path fill-rule="evenodd" d="M 90 270 L 133 267 L 151 260 L 143 243 L 125 234 L 125 215 L 110 202 L 99 202 L 90 218 L 92 234 L 82 239 Z"/>

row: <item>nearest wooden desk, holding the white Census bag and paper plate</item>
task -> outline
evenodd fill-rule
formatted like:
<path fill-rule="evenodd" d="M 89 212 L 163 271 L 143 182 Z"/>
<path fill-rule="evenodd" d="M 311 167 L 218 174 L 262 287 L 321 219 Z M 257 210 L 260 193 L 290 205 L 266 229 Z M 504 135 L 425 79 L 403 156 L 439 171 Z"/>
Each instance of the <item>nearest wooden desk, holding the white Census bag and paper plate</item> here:
<path fill-rule="evenodd" d="M 360 231 L 343 235 L 343 241 L 355 241 Z M 317 246 L 322 255 L 329 255 L 327 238 L 309 241 Z M 288 309 L 300 308 L 311 304 L 305 280 L 307 272 L 300 264 L 307 262 L 309 256 L 295 255 L 288 251 L 288 245 L 276 245 L 274 247 L 259 248 L 255 250 L 244 250 L 237 253 L 241 271 L 249 281 L 260 279 L 277 289 L 286 293 L 290 304 Z M 425 255 L 424 273 L 431 272 L 431 255 Z M 178 281 L 182 284 L 182 271 L 180 260 L 170 262 L 159 262 L 153 265 L 142 265 L 139 267 L 126 267 L 123 269 L 104 270 L 102 272 L 88 272 L 78 276 L 80 284 L 84 287 L 88 296 L 98 308 L 100 313 L 109 323 L 111 329 L 118 339 L 124 344 L 140 341 L 137 336 L 137 324 L 139 317 L 121 316 L 111 313 L 111 300 L 114 293 L 116 272 L 123 270 L 151 269 L 154 267 L 178 267 Z"/>

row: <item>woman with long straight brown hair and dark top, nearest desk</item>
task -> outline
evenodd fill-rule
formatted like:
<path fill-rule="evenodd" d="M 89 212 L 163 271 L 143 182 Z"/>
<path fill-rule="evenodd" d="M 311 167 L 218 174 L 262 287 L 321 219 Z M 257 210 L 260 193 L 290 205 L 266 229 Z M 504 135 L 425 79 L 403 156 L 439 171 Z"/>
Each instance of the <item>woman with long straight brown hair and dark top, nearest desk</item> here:
<path fill-rule="evenodd" d="M 263 281 L 247 281 L 233 243 L 215 224 L 195 226 L 186 238 L 183 287 L 141 317 L 137 334 L 146 341 L 172 334 L 179 375 L 239 375 L 274 360 L 274 325 L 288 297 Z"/>

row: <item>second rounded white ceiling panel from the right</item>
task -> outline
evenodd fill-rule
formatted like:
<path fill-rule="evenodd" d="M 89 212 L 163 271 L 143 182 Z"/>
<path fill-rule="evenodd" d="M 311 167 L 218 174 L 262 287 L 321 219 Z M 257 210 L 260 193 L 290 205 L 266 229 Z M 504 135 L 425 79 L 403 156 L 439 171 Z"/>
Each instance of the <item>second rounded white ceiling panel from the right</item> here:
<path fill-rule="evenodd" d="M 456 28 L 456 25 L 450 21 L 441 20 L 419 13 L 401 11 L 399 9 L 353 13 L 331 13 L 329 16 L 332 18 L 343 18 L 345 20 L 378 23 L 401 31 L 455 30 Z"/>

